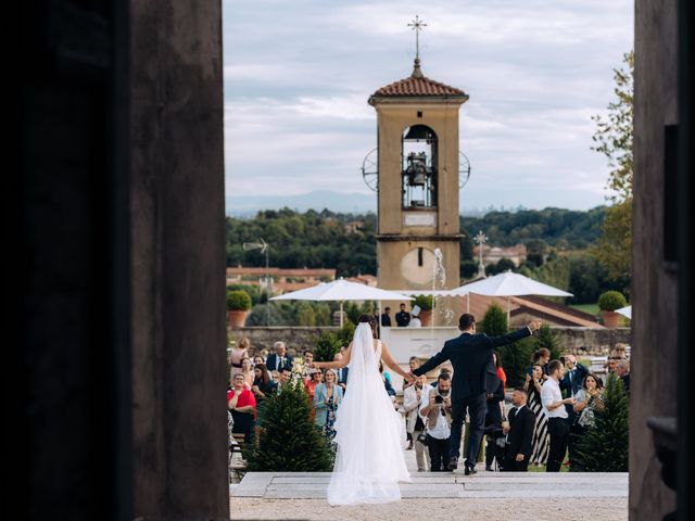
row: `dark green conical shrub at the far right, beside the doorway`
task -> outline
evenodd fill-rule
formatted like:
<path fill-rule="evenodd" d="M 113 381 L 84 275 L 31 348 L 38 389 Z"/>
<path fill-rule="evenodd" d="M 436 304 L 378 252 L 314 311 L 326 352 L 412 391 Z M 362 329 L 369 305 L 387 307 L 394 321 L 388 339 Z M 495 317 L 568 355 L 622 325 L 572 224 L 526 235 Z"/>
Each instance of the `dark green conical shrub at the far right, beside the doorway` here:
<path fill-rule="evenodd" d="M 571 471 L 628 471 L 630 402 L 622 380 L 610 374 L 602 398 L 603 410 L 594 414 L 596 427 L 585 429 L 574 441 Z"/>

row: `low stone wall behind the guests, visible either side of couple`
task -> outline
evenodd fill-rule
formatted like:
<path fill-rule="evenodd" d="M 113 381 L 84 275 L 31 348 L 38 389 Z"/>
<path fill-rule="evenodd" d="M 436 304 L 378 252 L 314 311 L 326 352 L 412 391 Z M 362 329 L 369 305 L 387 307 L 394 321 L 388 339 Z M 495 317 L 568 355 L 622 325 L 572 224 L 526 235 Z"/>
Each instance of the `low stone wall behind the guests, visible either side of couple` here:
<path fill-rule="evenodd" d="M 577 356 L 607 355 L 617 343 L 630 344 L 630 328 L 563 328 L 553 327 L 564 351 Z M 338 328 L 326 327 L 267 327 L 241 328 L 230 332 L 229 338 L 239 340 L 242 336 L 251 341 L 251 352 L 273 348 L 273 344 L 282 341 L 288 348 L 302 352 L 314 348 L 316 340 L 323 331 L 337 332 Z"/>

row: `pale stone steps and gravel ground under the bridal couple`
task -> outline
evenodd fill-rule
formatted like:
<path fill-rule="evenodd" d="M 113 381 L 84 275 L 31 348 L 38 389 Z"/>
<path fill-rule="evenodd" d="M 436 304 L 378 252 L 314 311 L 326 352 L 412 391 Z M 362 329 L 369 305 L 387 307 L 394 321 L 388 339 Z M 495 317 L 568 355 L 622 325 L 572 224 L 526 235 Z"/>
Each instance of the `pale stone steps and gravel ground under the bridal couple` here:
<path fill-rule="evenodd" d="M 402 501 L 331 508 L 328 472 L 248 472 L 229 487 L 231 519 L 628 519 L 627 473 L 416 472 L 414 453 L 405 452 L 413 482 L 401 484 Z"/>

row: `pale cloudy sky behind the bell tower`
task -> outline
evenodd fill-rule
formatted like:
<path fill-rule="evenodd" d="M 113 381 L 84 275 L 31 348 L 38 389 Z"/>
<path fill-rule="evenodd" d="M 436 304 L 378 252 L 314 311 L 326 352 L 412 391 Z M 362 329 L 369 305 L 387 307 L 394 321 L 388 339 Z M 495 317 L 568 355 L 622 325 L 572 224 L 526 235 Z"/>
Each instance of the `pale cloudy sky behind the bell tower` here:
<path fill-rule="evenodd" d="M 422 71 L 465 90 L 462 206 L 590 208 L 607 166 L 591 116 L 633 46 L 627 0 L 224 0 L 226 193 L 314 190 L 376 198 L 359 166 L 376 147 L 379 87 Z"/>

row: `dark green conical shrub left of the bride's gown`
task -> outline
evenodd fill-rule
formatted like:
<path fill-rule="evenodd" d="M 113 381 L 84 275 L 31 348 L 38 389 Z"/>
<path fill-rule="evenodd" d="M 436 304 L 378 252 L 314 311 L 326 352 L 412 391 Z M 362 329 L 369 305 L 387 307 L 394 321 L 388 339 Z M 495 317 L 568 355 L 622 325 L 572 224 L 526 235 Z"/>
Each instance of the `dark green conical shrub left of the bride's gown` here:
<path fill-rule="evenodd" d="M 244 450 L 253 472 L 328 472 L 333 453 L 311 416 L 301 379 L 266 399 L 258 445 Z"/>

